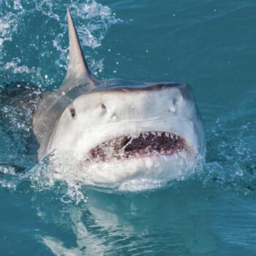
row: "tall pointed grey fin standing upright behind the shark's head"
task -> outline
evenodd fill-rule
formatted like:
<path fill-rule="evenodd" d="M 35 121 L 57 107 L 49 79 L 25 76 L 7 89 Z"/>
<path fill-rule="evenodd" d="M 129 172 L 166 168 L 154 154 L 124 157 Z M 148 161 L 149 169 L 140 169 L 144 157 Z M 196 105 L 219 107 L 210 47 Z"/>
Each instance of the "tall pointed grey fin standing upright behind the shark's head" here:
<path fill-rule="evenodd" d="M 67 10 L 67 24 L 69 31 L 69 66 L 64 83 L 62 84 L 62 90 L 69 91 L 81 84 L 89 84 L 90 87 L 94 87 L 96 79 L 89 71 L 84 59 L 78 32 L 75 29 L 69 10 Z"/>

